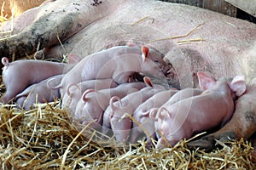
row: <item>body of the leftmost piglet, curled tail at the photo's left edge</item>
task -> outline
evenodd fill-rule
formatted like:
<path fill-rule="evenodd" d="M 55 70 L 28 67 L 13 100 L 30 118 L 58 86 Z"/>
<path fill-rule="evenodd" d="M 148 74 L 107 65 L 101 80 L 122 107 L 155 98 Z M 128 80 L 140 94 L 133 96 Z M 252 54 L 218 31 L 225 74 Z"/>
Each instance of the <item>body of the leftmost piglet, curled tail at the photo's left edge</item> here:
<path fill-rule="evenodd" d="M 66 64 L 43 60 L 17 60 L 9 63 L 9 59 L 2 58 L 3 83 L 6 93 L 2 100 L 8 103 L 28 86 L 41 82 L 49 77 L 63 74 Z"/>

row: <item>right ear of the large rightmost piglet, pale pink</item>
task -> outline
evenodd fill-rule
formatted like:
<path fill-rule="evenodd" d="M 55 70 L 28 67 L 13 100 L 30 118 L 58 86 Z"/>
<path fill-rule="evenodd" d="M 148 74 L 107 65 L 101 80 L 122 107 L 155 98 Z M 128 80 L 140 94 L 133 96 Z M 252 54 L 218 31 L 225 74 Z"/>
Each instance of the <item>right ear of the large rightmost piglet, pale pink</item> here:
<path fill-rule="evenodd" d="M 230 88 L 236 93 L 236 96 L 241 96 L 247 89 L 247 82 L 244 76 L 236 76 L 230 82 Z"/>

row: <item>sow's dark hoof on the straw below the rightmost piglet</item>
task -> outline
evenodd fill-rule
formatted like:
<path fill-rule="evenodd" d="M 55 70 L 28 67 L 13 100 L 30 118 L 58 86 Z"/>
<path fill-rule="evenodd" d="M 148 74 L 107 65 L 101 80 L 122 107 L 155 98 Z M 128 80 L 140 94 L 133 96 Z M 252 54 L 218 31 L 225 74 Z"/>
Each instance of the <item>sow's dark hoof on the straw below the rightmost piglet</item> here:
<path fill-rule="evenodd" d="M 201 150 L 211 151 L 213 149 L 213 144 L 209 140 L 198 139 L 198 140 L 189 142 L 188 147 L 189 149 L 192 149 L 192 150 L 199 148 Z"/>

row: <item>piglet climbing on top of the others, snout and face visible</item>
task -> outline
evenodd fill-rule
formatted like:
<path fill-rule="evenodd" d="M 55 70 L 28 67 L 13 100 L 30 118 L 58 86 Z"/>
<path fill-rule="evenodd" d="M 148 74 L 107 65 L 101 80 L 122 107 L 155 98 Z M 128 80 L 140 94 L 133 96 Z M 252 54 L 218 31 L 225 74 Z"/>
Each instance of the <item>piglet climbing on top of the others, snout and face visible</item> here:
<path fill-rule="evenodd" d="M 159 53 L 146 46 L 142 48 L 118 46 L 85 57 L 63 77 L 64 92 L 68 83 L 92 79 L 112 78 L 114 82 L 131 82 L 131 75 L 141 72 L 153 77 L 165 77 L 170 66 Z"/>

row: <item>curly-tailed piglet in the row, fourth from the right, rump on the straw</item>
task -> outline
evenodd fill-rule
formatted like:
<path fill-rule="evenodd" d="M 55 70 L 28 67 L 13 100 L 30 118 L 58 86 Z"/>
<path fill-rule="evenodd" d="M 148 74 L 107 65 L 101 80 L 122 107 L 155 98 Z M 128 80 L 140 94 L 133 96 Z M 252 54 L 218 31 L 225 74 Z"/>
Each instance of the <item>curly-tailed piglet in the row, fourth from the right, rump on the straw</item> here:
<path fill-rule="evenodd" d="M 145 86 L 146 84 L 144 82 L 130 82 L 120 84 L 116 88 L 102 89 L 99 91 L 88 89 L 84 92 L 77 104 L 73 120 L 75 122 L 79 121 L 79 124 L 82 124 L 83 127 L 95 121 L 90 124 L 90 127 L 98 130 L 102 127 L 103 112 L 107 109 L 111 97 L 118 96 L 119 98 L 123 98 L 134 89 L 137 91 Z"/>

